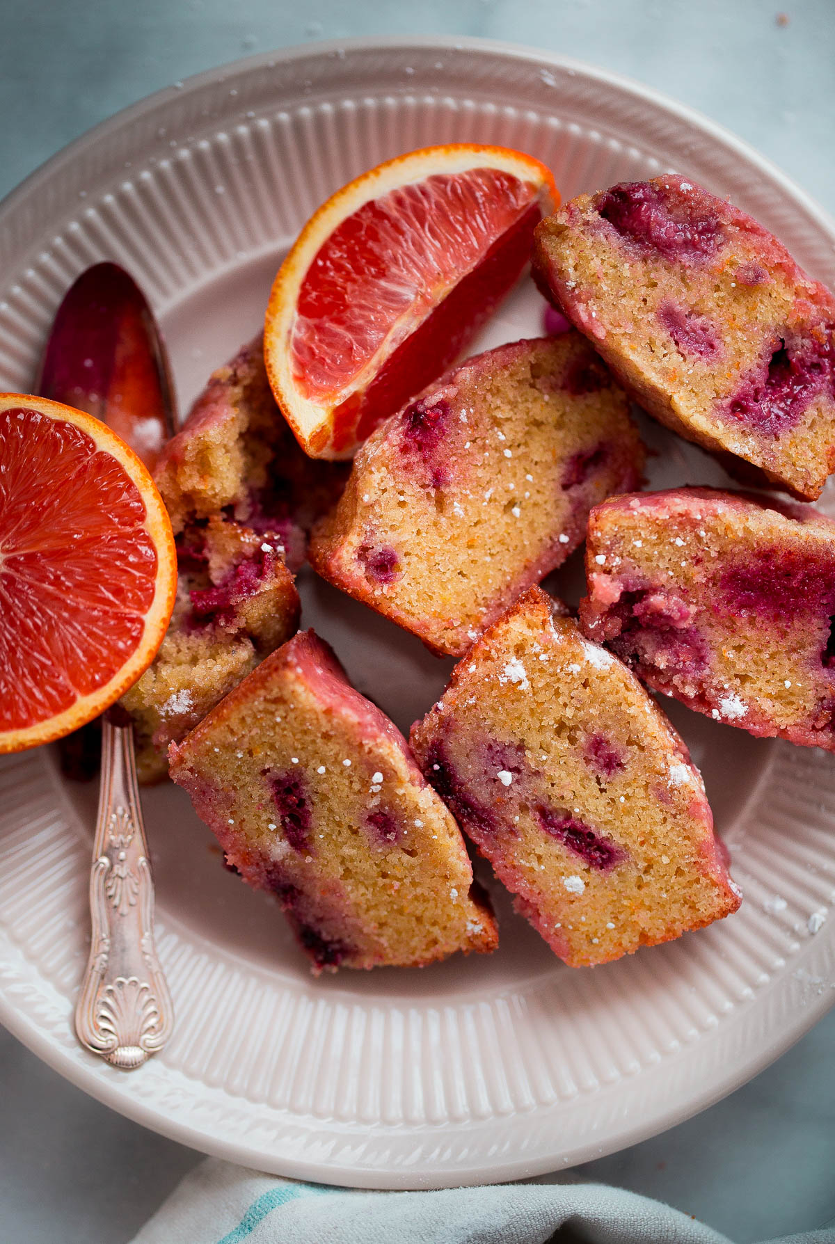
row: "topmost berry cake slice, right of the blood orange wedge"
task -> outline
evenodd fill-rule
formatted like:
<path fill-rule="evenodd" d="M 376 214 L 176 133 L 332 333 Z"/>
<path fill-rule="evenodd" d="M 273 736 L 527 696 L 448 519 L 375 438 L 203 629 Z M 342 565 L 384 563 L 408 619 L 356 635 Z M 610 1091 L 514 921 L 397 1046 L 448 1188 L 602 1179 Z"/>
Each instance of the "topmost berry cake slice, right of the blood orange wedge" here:
<path fill-rule="evenodd" d="M 762 225 L 666 174 L 572 199 L 538 226 L 534 265 L 650 414 L 820 495 L 835 469 L 835 299 Z"/>

